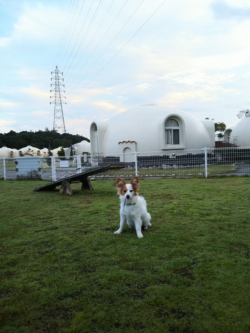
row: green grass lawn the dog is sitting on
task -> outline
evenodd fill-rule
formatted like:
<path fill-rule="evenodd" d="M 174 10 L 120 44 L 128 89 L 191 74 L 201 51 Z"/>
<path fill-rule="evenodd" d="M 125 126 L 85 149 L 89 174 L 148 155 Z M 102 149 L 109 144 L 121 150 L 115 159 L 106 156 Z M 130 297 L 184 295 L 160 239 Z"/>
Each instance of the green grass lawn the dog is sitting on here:
<path fill-rule="evenodd" d="M 142 239 L 113 181 L 39 184 L 0 181 L 1 333 L 249 332 L 249 177 L 142 180 Z"/>

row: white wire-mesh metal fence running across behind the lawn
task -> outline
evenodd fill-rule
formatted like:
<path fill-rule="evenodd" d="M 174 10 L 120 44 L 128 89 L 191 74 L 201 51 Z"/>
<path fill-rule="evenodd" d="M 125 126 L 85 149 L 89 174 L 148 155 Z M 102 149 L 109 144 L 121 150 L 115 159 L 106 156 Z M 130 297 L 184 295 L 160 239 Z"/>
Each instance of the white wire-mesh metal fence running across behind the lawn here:
<path fill-rule="evenodd" d="M 74 157 L 18 157 L 0 159 L 5 180 L 60 180 L 107 164 L 124 168 L 98 173 L 93 179 L 144 179 L 250 175 L 250 147 L 204 148 L 128 154 L 89 154 Z"/>

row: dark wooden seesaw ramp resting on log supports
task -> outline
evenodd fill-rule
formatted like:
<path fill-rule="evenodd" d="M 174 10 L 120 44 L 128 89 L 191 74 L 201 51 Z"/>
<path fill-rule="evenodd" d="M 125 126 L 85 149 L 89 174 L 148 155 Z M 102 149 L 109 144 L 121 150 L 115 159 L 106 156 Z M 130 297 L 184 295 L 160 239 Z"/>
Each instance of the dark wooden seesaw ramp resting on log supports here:
<path fill-rule="evenodd" d="M 50 191 L 55 189 L 57 186 L 61 185 L 60 192 L 59 193 L 66 193 L 67 195 L 72 195 L 72 189 L 70 187 L 70 184 L 72 183 L 82 183 L 81 189 L 89 189 L 93 190 L 93 187 L 90 183 L 89 176 L 92 176 L 93 174 L 97 174 L 103 171 L 107 170 L 117 170 L 124 168 L 126 164 L 120 163 L 120 164 L 107 164 L 105 166 L 99 166 L 91 168 L 90 170 L 86 170 L 81 173 L 77 173 L 70 177 L 65 177 L 60 180 L 52 181 L 49 184 L 41 185 L 38 187 L 33 188 L 33 191 L 39 192 L 39 191 Z"/>

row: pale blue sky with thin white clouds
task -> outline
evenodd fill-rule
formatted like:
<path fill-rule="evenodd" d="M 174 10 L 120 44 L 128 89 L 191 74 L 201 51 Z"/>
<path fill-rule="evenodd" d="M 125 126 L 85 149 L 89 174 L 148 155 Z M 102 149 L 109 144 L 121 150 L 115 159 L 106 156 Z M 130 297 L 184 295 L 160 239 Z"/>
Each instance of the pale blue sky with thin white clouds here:
<path fill-rule="evenodd" d="M 147 101 L 233 127 L 250 109 L 250 1 L 162 3 L 0 0 L 0 133 L 53 128 L 56 65 L 68 133 Z"/>

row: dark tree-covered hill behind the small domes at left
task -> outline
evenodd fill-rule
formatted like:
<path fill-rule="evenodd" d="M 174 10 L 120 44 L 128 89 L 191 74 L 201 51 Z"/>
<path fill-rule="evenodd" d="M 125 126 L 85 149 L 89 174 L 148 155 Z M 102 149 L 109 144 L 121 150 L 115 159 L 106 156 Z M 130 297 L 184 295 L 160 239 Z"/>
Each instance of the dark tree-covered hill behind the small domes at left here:
<path fill-rule="evenodd" d="M 45 129 L 45 131 L 37 131 L 37 132 L 15 132 L 10 131 L 9 133 L 0 133 L 0 148 L 5 146 L 8 148 L 16 148 L 21 149 L 28 145 L 32 147 L 36 147 L 38 149 L 50 148 L 55 149 L 60 146 L 70 147 L 70 145 L 74 145 L 78 142 L 86 140 L 90 142 L 88 138 L 82 137 L 81 135 L 73 135 L 69 133 L 57 133 L 54 130 Z"/>

